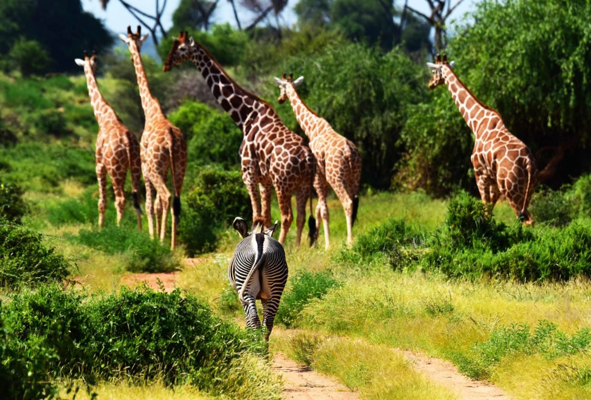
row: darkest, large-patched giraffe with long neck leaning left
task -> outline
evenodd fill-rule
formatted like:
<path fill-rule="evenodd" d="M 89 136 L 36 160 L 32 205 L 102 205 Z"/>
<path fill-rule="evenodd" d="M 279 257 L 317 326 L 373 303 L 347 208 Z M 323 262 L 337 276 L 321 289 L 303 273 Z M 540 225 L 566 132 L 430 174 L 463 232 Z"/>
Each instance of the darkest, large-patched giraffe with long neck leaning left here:
<path fill-rule="evenodd" d="M 302 137 L 281 122 L 269 103 L 240 87 L 209 51 L 193 38 L 187 38 L 187 32 L 181 32 L 174 39 L 164 71 L 186 60 L 191 60 L 199 68 L 217 102 L 242 130 L 241 172 L 251 198 L 253 221 L 263 217 L 265 227 L 271 225 L 271 191 L 274 188 L 281 211 L 279 242 L 283 244 L 293 222 L 291 194 L 296 192 L 296 245 L 300 245 L 306 222 L 306 202 L 310 198 L 311 206 L 316 173 L 316 160 L 310 148 Z M 257 186 L 261 191 L 260 204 Z M 313 217 L 310 216 L 308 224 L 311 245 L 316 230 Z"/>

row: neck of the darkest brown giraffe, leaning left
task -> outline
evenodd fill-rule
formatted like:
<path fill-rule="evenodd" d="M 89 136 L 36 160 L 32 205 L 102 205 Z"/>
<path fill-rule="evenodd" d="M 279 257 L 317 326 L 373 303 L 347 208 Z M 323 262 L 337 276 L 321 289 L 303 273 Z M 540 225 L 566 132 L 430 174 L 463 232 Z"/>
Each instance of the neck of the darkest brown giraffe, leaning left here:
<path fill-rule="evenodd" d="M 238 127 L 242 129 L 252 113 L 261 111 L 261 107 L 271 107 L 233 81 L 215 58 L 202 47 L 196 44 L 191 51 L 190 60 L 201 71 L 217 103 L 230 114 Z"/>

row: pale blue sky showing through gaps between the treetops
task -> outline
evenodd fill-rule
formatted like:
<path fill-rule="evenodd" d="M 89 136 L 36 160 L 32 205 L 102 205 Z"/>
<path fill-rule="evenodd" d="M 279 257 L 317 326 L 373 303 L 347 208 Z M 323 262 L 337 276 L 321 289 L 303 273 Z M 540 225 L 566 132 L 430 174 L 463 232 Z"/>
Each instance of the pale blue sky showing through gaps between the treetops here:
<path fill-rule="evenodd" d="M 147 1 L 147 0 L 126 0 L 129 4 L 136 6 L 137 8 L 141 9 L 142 11 L 147 12 L 147 14 L 154 14 L 155 8 L 155 1 Z M 162 1 L 162 0 L 161 0 Z M 363 1 L 363 0 L 360 0 Z M 477 0 L 464 0 L 460 6 L 454 11 L 452 14 L 452 18 L 459 18 L 465 12 L 470 11 L 474 8 L 473 4 Z M 180 0 L 168 0 L 165 15 L 163 18 L 163 25 L 165 29 L 168 29 L 172 25 L 172 15 L 174 10 L 177 8 L 178 3 Z M 239 0 L 236 0 L 238 3 Z M 297 4 L 297 0 L 290 0 L 288 2 L 287 11 L 285 11 L 282 15 L 284 19 L 284 23 L 287 25 L 294 24 L 296 22 L 296 14 L 293 12 L 294 5 Z M 397 5 L 404 4 L 403 0 L 397 0 Z M 428 5 L 426 0 L 409 0 L 408 5 L 412 6 L 418 11 L 421 12 L 428 12 Z M 127 25 L 137 25 L 137 21 L 131 14 L 121 5 L 118 0 L 111 0 L 109 1 L 109 6 L 106 11 L 100 7 L 99 0 L 82 0 L 82 6 L 86 11 L 92 12 L 97 18 L 102 19 L 105 22 L 107 28 L 111 29 L 113 32 L 121 32 L 123 33 L 127 28 Z M 247 25 L 254 16 L 250 13 L 245 15 L 238 15 L 242 25 Z M 227 0 L 220 0 L 217 4 L 217 9 L 215 12 L 214 17 L 215 23 L 223 23 L 229 22 L 232 26 L 236 25 L 232 7 L 230 6 L 229 1 Z"/>

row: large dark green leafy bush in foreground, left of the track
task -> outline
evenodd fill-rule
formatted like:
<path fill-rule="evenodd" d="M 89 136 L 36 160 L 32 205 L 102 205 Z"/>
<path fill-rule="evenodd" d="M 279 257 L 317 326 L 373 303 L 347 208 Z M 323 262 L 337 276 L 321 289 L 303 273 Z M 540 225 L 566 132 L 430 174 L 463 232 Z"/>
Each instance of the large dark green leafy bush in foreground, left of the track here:
<path fill-rule="evenodd" d="M 191 382 L 213 395 L 276 396 L 278 386 L 268 369 L 249 362 L 265 353 L 260 337 L 217 319 L 196 297 L 181 297 L 179 289 L 167 294 L 123 287 L 89 296 L 43 286 L 11 296 L 0 313 L 19 356 L 26 355 L 28 362 L 43 356 L 31 352 L 30 337 L 59 355 L 38 371 L 47 378 L 161 379 L 168 385 Z M 239 378 L 248 368 L 258 378 L 254 382 Z"/>

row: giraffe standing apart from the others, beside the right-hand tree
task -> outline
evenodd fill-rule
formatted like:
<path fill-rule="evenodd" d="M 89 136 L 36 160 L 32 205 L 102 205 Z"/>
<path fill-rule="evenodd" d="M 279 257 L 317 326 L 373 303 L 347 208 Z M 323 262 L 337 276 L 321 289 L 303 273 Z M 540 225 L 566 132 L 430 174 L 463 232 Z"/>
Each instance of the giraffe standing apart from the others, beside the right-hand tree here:
<path fill-rule="evenodd" d="M 511 135 L 501 116 L 484 104 L 464 86 L 447 62 L 437 54 L 436 63 L 427 63 L 433 71 L 428 88 L 445 83 L 456 106 L 475 136 L 472 165 L 480 198 L 494 206 L 504 196 L 525 225 L 533 225 L 534 219 L 527 211 L 536 182 L 534 156 L 530 149 Z"/>

